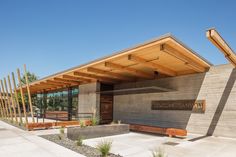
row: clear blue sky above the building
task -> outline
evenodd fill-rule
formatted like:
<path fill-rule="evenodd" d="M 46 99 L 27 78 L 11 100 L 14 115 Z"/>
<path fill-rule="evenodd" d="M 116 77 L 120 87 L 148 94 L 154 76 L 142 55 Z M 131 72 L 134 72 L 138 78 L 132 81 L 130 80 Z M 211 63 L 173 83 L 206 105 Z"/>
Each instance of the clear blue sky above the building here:
<path fill-rule="evenodd" d="M 0 78 L 16 68 L 41 78 L 166 33 L 213 64 L 216 27 L 236 50 L 234 0 L 0 0 Z"/>

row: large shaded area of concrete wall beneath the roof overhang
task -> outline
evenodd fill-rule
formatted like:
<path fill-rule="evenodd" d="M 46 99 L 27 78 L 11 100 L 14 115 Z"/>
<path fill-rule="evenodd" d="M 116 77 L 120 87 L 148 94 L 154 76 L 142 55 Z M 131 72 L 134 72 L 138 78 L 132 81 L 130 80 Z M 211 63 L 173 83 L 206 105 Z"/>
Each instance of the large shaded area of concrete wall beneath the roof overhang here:
<path fill-rule="evenodd" d="M 151 102 L 159 100 L 196 100 L 205 76 L 206 73 L 201 73 L 116 85 L 116 89 L 158 85 L 167 89 L 176 89 L 176 91 L 118 95 L 115 99 L 114 119 L 132 124 L 186 129 L 192 111 L 151 110 Z"/>

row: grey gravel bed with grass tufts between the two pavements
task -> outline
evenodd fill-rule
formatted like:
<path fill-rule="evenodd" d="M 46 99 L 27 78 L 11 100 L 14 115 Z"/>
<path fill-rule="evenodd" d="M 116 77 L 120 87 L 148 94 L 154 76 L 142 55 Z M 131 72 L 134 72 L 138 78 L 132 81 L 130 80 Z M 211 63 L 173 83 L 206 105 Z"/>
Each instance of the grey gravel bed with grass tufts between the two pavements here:
<path fill-rule="evenodd" d="M 66 137 L 59 139 L 59 134 L 53 134 L 53 135 L 42 135 L 40 136 L 42 138 L 45 138 L 49 141 L 55 142 L 63 147 L 66 147 L 68 149 L 71 149 L 75 152 L 78 152 L 80 154 L 83 154 L 87 157 L 101 157 L 101 153 L 93 147 L 82 145 L 77 146 L 75 141 L 72 141 Z M 109 157 L 122 157 L 120 155 L 110 154 Z"/>

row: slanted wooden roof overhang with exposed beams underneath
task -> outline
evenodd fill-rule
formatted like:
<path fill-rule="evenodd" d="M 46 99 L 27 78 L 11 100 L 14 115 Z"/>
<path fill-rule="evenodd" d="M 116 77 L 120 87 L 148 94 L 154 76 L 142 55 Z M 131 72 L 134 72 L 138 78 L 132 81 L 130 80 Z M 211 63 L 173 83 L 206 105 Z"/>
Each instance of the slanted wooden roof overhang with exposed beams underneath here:
<path fill-rule="evenodd" d="M 211 63 L 170 34 L 30 84 L 32 93 L 104 82 L 158 79 L 206 72 Z M 23 87 L 26 89 L 26 86 Z"/>

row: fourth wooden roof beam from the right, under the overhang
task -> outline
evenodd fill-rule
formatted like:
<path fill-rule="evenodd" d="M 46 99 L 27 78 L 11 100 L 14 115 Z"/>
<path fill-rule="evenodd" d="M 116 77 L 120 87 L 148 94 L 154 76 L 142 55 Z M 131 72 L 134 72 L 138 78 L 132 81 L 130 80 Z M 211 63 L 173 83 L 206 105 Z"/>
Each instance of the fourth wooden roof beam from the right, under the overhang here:
<path fill-rule="evenodd" d="M 122 76 L 120 74 L 117 74 L 117 73 L 114 73 L 114 72 L 111 72 L 111 71 L 97 69 L 97 68 L 88 67 L 87 71 L 92 72 L 92 73 L 96 73 L 96 74 L 101 74 L 101 75 L 108 75 L 110 77 L 117 78 L 117 79 L 120 79 L 120 80 L 125 80 L 125 81 L 132 80 L 132 79 L 127 78 L 125 76 Z"/>

